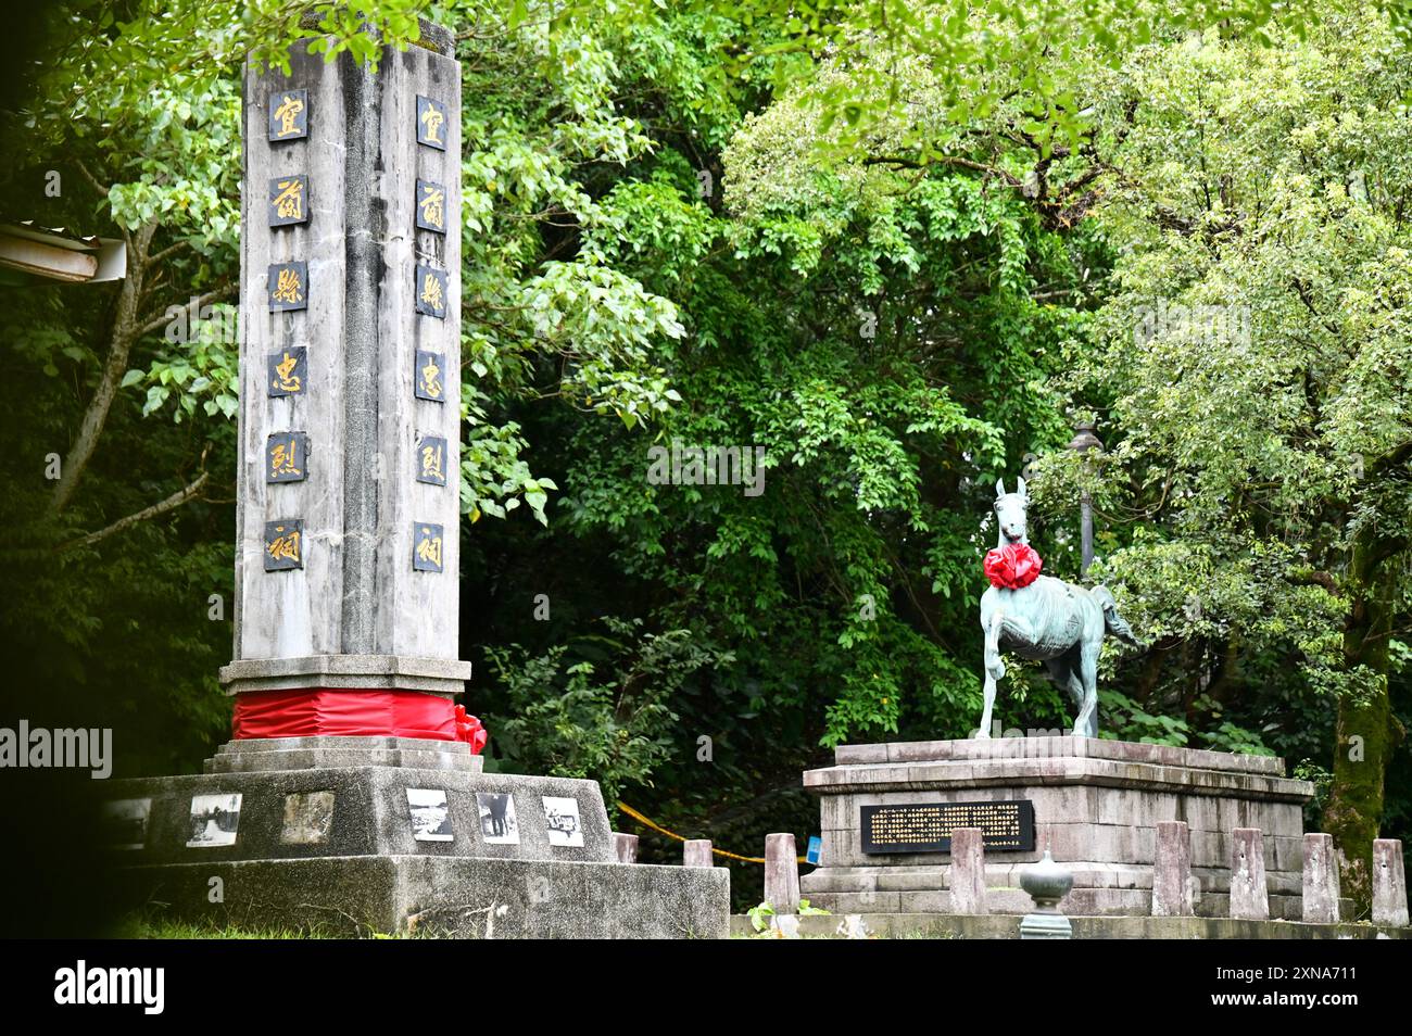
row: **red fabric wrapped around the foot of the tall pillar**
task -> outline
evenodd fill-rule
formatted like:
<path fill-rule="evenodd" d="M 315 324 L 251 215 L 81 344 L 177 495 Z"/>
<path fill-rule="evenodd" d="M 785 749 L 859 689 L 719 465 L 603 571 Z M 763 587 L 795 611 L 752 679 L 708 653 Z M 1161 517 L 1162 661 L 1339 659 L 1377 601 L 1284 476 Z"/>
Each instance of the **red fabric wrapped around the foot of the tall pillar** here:
<path fill-rule="evenodd" d="M 267 737 L 419 737 L 466 741 L 480 754 L 486 728 L 460 706 L 419 690 L 256 690 L 236 696 L 236 740 Z"/>

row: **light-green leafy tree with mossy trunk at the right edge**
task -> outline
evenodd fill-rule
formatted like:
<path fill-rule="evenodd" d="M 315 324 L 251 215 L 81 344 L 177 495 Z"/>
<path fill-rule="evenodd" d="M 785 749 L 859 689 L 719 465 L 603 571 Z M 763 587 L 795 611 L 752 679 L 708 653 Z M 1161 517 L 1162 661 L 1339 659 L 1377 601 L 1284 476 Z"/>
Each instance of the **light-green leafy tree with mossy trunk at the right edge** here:
<path fill-rule="evenodd" d="M 1144 48 L 1097 89 L 1121 258 L 1083 373 L 1121 436 L 1101 505 L 1148 529 L 1108 569 L 1210 635 L 1219 672 L 1281 645 L 1333 700 L 1323 819 L 1364 903 L 1404 735 L 1409 86 L 1394 25 L 1357 4 L 1269 48 Z"/>

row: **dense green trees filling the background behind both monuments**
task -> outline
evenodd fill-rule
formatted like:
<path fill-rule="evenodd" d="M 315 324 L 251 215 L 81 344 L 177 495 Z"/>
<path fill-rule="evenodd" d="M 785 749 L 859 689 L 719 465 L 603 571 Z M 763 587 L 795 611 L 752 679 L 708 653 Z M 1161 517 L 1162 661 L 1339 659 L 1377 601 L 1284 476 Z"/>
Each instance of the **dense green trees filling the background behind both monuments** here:
<path fill-rule="evenodd" d="M 236 347 L 165 329 L 234 301 L 239 59 L 299 13 L 54 4 L 3 113 L 6 216 L 128 247 L 124 282 L 0 312 L 20 707 L 116 727 L 120 772 L 225 737 Z M 1077 577 L 1090 490 L 1094 574 L 1149 642 L 1106 655 L 1108 734 L 1282 754 L 1354 855 L 1412 836 L 1395 8 L 402 0 L 321 31 L 371 56 L 364 17 L 405 42 L 417 13 L 465 78 L 462 652 L 491 765 L 747 855 L 802 841 L 829 745 L 969 733 L 991 487 L 1024 467 L 1046 570 Z M 758 449 L 761 491 L 650 478 L 674 446 Z M 1011 672 L 1001 724 L 1065 725 Z"/>

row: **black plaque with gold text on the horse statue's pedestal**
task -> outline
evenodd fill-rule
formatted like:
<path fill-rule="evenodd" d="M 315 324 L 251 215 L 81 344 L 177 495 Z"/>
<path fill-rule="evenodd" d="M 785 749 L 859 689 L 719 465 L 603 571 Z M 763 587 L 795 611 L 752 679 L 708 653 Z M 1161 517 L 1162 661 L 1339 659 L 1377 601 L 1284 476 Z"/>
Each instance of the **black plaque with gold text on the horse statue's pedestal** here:
<path fill-rule="evenodd" d="M 858 827 L 864 853 L 950 853 L 957 827 L 979 827 L 987 851 L 1035 848 L 1035 806 L 1027 799 L 860 806 Z"/>

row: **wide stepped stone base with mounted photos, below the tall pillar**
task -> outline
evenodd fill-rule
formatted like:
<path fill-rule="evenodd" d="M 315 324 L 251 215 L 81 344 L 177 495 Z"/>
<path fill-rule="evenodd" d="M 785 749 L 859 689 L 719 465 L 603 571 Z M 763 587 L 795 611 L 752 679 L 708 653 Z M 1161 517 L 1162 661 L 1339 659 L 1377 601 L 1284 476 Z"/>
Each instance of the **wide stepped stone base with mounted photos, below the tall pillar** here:
<path fill-rule="evenodd" d="M 618 864 L 596 782 L 481 762 L 460 742 L 278 738 L 232 741 L 205 773 L 106 782 L 119 886 L 246 929 L 726 937 L 729 871 Z"/>

